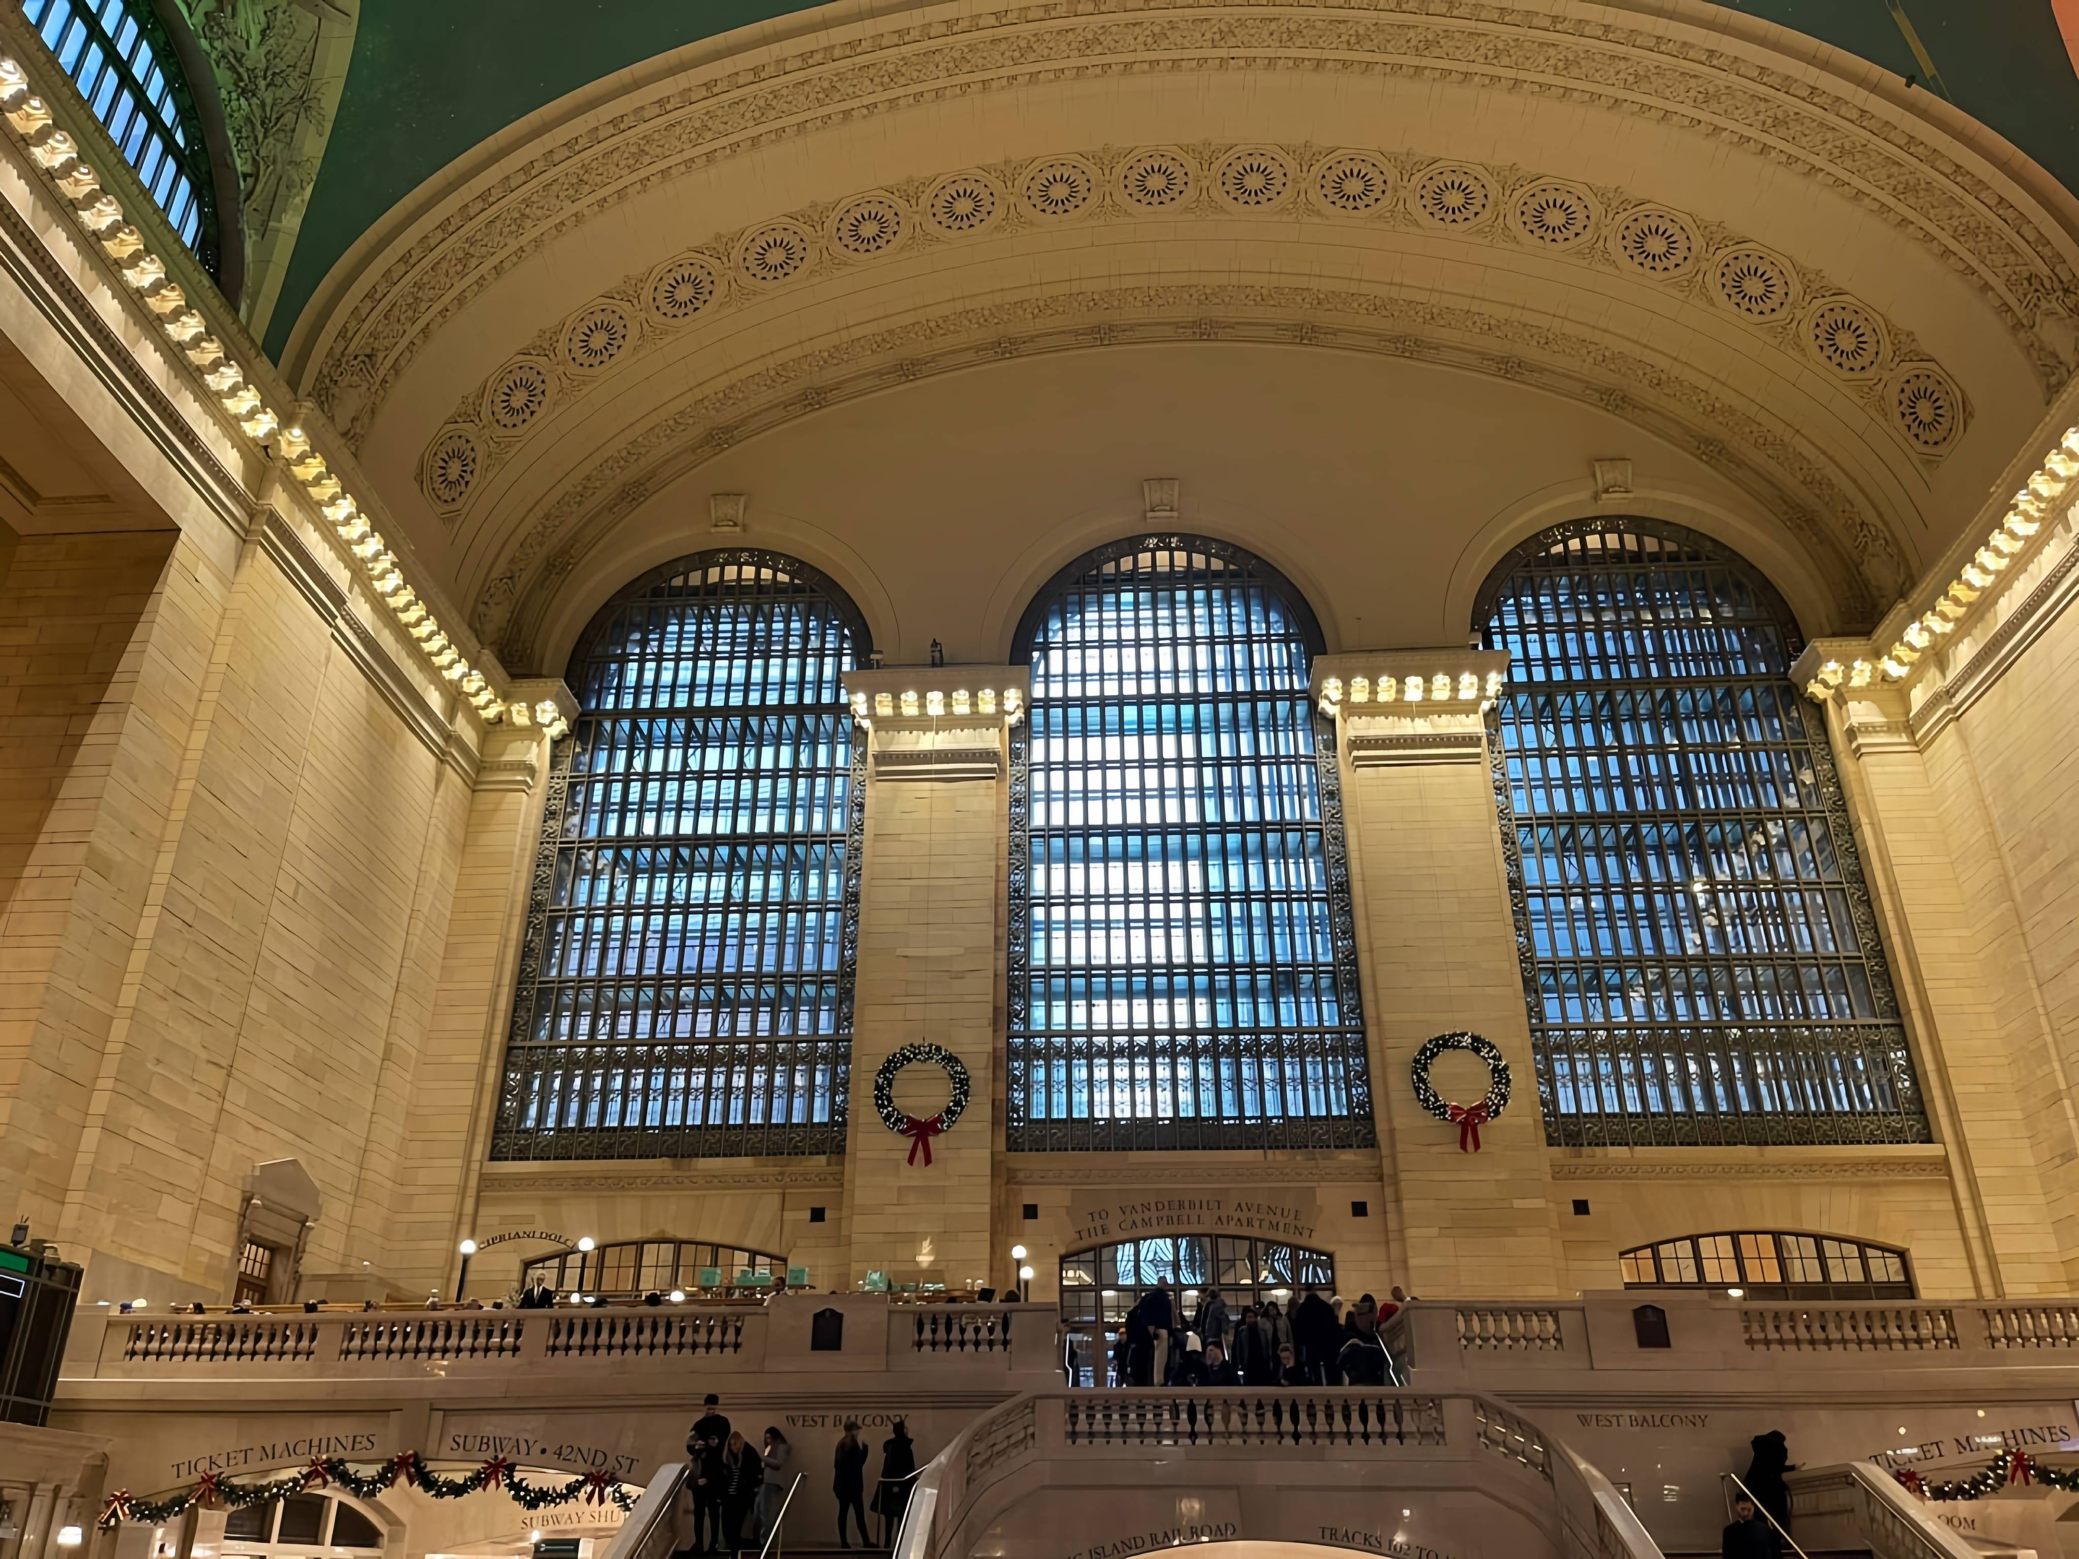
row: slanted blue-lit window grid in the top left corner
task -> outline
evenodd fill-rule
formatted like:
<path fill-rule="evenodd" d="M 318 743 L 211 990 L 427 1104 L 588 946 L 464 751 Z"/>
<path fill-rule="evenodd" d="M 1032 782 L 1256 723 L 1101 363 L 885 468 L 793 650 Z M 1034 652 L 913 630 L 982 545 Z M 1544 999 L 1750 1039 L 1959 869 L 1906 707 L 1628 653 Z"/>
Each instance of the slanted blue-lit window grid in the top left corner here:
<path fill-rule="evenodd" d="M 25 0 L 23 15 L 181 243 L 214 270 L 216 212 L 202 127 L 148 0 Z"/>

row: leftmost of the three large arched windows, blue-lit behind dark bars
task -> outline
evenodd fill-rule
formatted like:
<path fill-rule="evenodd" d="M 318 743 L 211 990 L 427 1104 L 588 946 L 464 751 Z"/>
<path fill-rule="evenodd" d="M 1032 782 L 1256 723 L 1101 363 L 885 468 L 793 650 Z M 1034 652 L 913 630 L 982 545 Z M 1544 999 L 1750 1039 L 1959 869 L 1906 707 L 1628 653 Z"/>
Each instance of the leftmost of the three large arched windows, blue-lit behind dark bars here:
<path fill-rule="evenodd" d="M 844 1150 L 859 831 L 844 594 L 703 553 L 578 640 L 493 1158 Z"/>

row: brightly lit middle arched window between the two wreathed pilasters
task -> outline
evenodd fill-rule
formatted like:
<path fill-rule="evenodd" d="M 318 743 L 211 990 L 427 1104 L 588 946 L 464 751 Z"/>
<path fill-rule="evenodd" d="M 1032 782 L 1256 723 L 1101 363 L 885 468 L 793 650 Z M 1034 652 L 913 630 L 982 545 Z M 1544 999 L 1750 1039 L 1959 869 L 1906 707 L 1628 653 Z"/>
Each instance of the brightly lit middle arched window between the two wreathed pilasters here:
<path fill-rule="evenodd" d="M 1374 1141 L 1318 649 L 1291 584 L 1200 536 L 1091 553 L 1025 613 L 1010 1147 Z"/>

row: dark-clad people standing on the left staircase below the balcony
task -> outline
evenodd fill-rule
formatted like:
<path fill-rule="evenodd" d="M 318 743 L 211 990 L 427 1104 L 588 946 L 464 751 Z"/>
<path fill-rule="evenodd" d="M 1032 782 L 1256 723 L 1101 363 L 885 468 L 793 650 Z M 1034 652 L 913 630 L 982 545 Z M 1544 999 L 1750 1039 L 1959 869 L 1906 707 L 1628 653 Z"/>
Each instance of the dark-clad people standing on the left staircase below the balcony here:
<path fill-rule="evenodd" d="M 838 1547 L 850 1549 L 850 1530 L 859 1530 L 861 1549 L 886 1549 L 902 1530 L 911 1484 L 917 1478 L 917 1443 L 898 1418 L 892 1434 L 881 1441 L 881 1476 L 867 1501 L 865 1441 L 859 1422 L 844 1424 L 832 1461 L 832 1492 L 838 1497 Z M 674 1559 L 707 1553 L 740 1553 L 761 1549 L 780 1526 L 788 1488 L 800 1476 L 792 1468 L 794 1447 L 778 1424 L 765 1428 L 759 1445 L 732 1428 L 721 1413 L 721 1399 L 707 1395 L 703 1413 L 686 1434 L 688 1478 L 674 1509 Z M 879 1540 L 867 1526 L 867 1511 L 881 1517 Z"/>

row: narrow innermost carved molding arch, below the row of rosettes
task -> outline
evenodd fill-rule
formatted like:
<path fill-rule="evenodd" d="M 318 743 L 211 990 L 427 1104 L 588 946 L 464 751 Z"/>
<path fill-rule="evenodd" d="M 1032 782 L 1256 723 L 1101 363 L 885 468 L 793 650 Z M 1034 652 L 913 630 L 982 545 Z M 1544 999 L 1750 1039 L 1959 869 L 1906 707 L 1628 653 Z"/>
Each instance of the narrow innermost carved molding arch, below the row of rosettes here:
<path fill-rule="evenodd" d="M 1418 358 L 1601 405 L 1709 461 L 1773 513 L 1807 543 L 1844 615 L 1867 617 L 1879 586 L 1896 590 L 1906 578 L 1892 536 L 1805 449 L 1796 426 L 1728 403 L 1680 360 L 1617 349 L 1565 320 L 1489 314 L 1426 293 L 1206 283 L 1048 293 L 909 318 L 686 395 L 615 439 L 520 524 L 476 594 L 476 628 L 503 646 L 507 665 L 528 665 L 555 584 L 622 518 L 742 439 L 813 409 L 1015 355 L 1206 337 Z"/>

